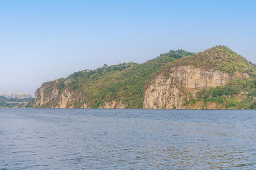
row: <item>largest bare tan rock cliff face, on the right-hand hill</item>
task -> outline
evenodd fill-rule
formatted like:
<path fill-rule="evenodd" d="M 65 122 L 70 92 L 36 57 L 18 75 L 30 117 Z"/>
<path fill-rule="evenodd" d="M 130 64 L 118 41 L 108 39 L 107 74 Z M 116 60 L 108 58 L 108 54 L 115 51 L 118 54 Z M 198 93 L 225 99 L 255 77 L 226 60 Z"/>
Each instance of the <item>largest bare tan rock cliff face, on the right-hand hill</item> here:
<path fill-rule="evenodd" d="M 218 70 L 193 66 L 171 68 L 167 75 L 153 78 L 144 93 L 143 107 L 147 109 L 185 109 L 184 102 L 195 97 L 198 90 L 224 86 L 231 76 Z"/>

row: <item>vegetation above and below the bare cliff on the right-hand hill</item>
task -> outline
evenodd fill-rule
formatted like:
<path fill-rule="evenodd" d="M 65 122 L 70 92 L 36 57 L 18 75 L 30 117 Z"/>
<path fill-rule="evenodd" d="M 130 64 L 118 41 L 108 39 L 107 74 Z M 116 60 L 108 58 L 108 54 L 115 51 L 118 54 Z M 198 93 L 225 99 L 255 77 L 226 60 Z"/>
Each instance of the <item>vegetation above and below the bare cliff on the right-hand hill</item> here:
<path fill-rule="evenodd" d="M 195 68 L 219 70 L 231 76 L 236 73 L 247 73 L 249 78 L 236 77 L 230 80 L 225 87 L 201 89 L 196 98 L 187 101 L 185 105 L 192 107 L 197 102 L 203 102 L 201 109 L 206 109 L 211 103 L 215 103 L 219 109 L 256 109 L 256 67 L 247 59 L 226 46 L 215 46 L 168 63 L 156 74 L 168 75 L 170 68 L 188 65 Z"/>

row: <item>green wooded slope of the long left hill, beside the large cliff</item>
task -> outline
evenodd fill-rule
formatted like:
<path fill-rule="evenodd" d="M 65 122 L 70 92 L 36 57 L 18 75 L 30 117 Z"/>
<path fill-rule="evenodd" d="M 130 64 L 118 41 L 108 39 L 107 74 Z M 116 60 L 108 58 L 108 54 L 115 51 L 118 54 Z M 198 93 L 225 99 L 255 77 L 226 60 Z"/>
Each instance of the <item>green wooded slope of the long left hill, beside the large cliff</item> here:
<path fill-rule="evenodd" d="M 67 88 L 78 99 L 76 103 L 70 103 L 75 108 L 82 107 L 82 103 L 98 108 L 104 101 L 113 100 L 121 100 L 126 104 L 126 108 L 142 108 L 143 90 L 149 77 L 167 63 L 192 54 L 183 50 L 169 51 L 143 64 L 130 62 L 75 72 L 65 79 L 46 83 L 44 93 L 45 96 L 50 95 L 54 86 L 60 93 Z M 65 85 L 64 82 L 68 84 Z M 52 104 L 56 105 L 57 100 Z"/>

